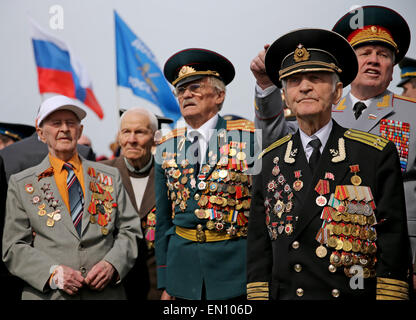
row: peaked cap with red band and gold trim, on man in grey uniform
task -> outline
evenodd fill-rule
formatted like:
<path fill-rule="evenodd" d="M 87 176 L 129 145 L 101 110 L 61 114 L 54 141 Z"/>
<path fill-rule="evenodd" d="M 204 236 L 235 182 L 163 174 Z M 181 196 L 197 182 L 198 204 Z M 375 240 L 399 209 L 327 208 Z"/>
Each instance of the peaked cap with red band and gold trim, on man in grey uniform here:
<path fill-rule="evenodd" d="M 360 19 L 362 18 L 362 21 Z M 362 26 L 358 26 L 362 22 Z M 382 6 L 363 6 L 351 10 L 332 29 L 357 48 L 368 44 L 389 47 L 396 55 L 396 63 L 406 55 L 410 44 L 410 29 L 396 11 Z"/>

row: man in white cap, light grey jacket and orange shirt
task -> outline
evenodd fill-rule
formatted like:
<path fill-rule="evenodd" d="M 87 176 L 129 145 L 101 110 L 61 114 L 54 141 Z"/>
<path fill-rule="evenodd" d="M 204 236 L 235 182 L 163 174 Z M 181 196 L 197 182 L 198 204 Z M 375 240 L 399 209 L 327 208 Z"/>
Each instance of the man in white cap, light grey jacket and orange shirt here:
<path fill-rule="evenodd" d="M 10 178 L 2 253 L 27 283 L 22 299 L 125 299 L 140 218 L 118 170 L 79 157 L 85 115 L 65 96 L 45 100 L 36 127 L 49 154 Z"/>

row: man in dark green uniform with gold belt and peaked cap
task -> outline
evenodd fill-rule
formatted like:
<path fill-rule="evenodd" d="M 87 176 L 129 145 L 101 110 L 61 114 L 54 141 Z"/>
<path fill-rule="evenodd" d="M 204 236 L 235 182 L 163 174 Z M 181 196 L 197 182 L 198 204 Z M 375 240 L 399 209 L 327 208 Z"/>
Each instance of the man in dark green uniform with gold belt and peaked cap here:
<path fill-rule="evenodd" d="M 164 74 L 186 127 L 164 136 L 156 151 L 162 299 L 244 297 L 254 126 L 218 115 L 234 67 L 216 52 L 185 49 L 168 59 Z"/>

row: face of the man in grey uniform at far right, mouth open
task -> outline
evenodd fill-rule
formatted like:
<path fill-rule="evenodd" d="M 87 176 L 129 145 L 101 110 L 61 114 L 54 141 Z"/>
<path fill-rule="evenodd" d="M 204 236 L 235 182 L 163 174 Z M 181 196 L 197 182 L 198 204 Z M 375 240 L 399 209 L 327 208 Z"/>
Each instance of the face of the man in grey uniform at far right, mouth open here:
<path fill-rule="evenodd" d="M 352 86 L 371 87 L 383 93 L 393 80 L 393 52 L 380 45 L 365 45 L 355 49 L 358 59 L 357 77 Z"/>

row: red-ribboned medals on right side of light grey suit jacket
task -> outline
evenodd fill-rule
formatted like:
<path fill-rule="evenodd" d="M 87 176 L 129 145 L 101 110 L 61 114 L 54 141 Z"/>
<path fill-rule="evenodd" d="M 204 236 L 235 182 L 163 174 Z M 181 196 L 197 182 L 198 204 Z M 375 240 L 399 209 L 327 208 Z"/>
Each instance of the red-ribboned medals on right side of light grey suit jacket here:
<path fill-rule="evenodd" d="M 89 174 L 90 177 L 94 180 L 96 177 L 94 177 L 93 174 Z M 101 188 L 103 191 L 100 193 L 100 189 L 97 188 L 97 185 Z M 98 223 L 101 226 L 101 233 L 106 236 L 108 234 L 108 228 L 106 227 L 108 224 L 108 221 L 111 221 L 111 214 L 113 212 L 113 203 L 112 199 L 106 199 L 104 191 L 108 191 L 109 193 L 112 193 L 114 191 L 114 188 L 112 185 L 106 185 L 103 183 L 98 182 L 97 179 L 90 182 L 89 186 L 92 195 L 91 195 L 91 202 L 95 203 L 96 206 L 96 212 L 91 213 L 90 212 L 90 223 L 95 224 Z M 101 221 L 98 221 L 96 215 L 97 213 L 101 213 L 104 216 L 104 223 Z"/>

